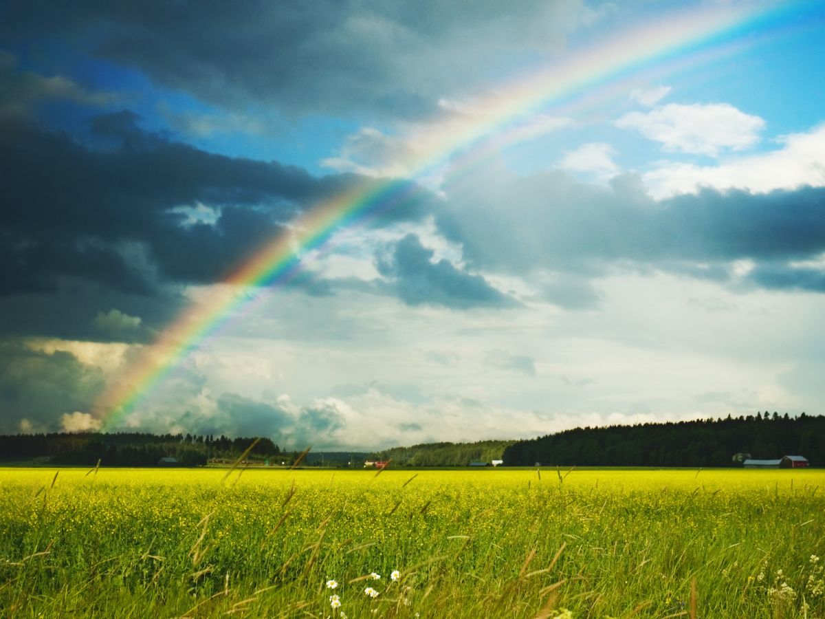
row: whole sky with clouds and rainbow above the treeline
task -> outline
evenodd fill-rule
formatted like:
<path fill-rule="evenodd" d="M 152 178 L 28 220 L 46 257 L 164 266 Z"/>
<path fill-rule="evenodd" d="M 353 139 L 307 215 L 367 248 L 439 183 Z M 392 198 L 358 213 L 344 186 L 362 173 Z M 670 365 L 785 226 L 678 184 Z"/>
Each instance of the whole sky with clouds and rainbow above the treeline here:
<path fill-rule="evenodd" d="M 0 5 L 0 432 L 822 414 L 825 7 Z"/>

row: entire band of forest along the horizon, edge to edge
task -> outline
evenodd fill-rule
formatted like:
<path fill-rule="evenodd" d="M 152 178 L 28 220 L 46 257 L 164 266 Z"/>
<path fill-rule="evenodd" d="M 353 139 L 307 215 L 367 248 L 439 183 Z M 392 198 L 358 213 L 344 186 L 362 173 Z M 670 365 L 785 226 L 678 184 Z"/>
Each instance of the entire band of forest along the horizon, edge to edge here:
<path fill-rule="evenodd" d="M 0 436 L 0 461 L 41 461 L 53 465 L 153 466 L 162 458 L 179 465 L 234 461 L 253 437 L 150 434 L 139 432 L 54 432 Z M 383 451 L 310 452 L 302 465 L 361 468 L 365 460 L 390 461 L 393 467 L 467 466 L 503 460 L 507 466 L 738 466 L 733 456 L 805 456 L 813 466 L 825 462 L 825 416 L 756 413 L 733 418 L 698 419 L 632 426 L 574 428 L 524 441 L 435 442 Z M 281 451 L 261 438 L 247 461 L 291 464 L 298 453 Z"/>

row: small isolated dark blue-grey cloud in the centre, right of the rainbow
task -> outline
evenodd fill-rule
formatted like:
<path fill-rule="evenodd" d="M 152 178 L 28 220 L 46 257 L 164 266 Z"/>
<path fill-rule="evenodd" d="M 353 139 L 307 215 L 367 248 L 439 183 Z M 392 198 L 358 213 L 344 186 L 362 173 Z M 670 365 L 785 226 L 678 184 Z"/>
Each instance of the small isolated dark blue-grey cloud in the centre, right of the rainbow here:
<path fill-rule="evenodd" d="M 443 305 L 452 309 L 504 307 L 512 299 L 502 295 L 479 275 L 464 272 L 451 262 L 431 262 L 435 253 L 415 234 L 408 234 L 381 257 L 377 267 L 407 305 Z"/>

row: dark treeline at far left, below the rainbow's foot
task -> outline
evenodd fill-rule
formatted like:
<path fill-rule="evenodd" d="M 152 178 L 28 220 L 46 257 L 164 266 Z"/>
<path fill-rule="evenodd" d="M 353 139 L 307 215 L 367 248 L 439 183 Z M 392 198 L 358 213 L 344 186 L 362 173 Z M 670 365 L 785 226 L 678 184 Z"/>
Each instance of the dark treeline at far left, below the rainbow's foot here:
<path fill-rule="evenodd" d="M 221 435 L 149 434 L 142 432 L 54 432 L 49 434 L 0 435 L 0 460 L 48 461 L 58 465 L 153 466 L 161 458 L 174 458 L 180 465 L 205 465 L 211 458 L 234 461 L 254 438 Z M 260 439 L 247 456 L 265 461 L 292 455 L 282 454 L 270 439 Z"/>

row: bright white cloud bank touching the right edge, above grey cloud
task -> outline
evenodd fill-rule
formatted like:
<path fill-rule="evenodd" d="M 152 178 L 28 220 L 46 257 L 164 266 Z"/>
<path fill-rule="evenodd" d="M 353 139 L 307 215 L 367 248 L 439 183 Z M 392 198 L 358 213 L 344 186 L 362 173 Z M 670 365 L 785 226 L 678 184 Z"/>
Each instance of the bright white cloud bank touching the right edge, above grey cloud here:
<path fill-rule="evenodd" d="M 733 158 L 715 166 L 666 162 L 643 175 L 658 199 L 695 193 L 701 187 L 767 193 L 776 189 L 825 187 L 825 124 L 807 133 L 785 135 L 782 147 Z"/>

